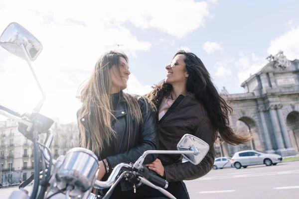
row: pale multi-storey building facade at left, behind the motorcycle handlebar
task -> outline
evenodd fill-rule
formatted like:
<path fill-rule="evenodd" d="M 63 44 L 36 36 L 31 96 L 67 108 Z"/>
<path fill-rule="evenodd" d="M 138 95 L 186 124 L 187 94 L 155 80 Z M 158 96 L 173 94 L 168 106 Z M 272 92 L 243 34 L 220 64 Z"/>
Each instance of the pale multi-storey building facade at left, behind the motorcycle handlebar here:
<path fill-rule="evenodd" d="M 18 123 L 7 119 L 0 121 L 0 183 L 14 184 L 29 178 L 34 170 L 33 143 L 18 130 Z M 50 146 L 53 158 L 79 146 L 76 123 L 52 125 L 54 138 Z M 39 136 L 39 142 L 45 141 L 46 135 Z"/>

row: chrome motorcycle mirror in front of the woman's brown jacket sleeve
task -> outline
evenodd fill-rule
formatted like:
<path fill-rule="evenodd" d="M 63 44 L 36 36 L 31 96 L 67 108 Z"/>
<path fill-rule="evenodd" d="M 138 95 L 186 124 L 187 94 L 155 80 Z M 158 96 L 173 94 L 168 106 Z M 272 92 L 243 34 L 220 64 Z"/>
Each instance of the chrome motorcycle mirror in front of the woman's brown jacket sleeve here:
<path fill-rule="evenodd" d="M 185 134 L 176 147 L 179 151 L 193 151 L 194 153 L 182 155 L 194 165 L 199 164 L 210 149 L 205 141 L 190 134 Z"/>

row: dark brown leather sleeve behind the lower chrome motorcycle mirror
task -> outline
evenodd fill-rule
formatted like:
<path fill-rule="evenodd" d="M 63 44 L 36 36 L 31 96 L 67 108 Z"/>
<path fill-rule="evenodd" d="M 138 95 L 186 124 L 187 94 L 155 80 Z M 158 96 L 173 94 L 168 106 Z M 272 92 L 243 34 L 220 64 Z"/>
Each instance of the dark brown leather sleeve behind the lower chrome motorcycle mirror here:
<path fill-rule="evenodd" d="M 198 165 L 190 162 L 175 163 L 164 166 L 165 179 L 168 182 L 194 180 L 209 173 L 213 167 L 214 154 L 214 130 L 209 119 L 207 119 L 194 133 L 194 136 L 205 141 L 210 149 L 203 160 Z"/>

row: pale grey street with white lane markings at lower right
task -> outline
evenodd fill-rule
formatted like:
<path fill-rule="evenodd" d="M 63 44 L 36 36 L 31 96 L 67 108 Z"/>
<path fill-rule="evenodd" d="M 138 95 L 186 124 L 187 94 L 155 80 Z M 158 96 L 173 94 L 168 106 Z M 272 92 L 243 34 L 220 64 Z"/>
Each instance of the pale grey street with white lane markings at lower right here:
<path fill-rule="evenodd" d="M 191 199 L 298 199 L 299 161 L 217 169 L 185 183 Z"/>

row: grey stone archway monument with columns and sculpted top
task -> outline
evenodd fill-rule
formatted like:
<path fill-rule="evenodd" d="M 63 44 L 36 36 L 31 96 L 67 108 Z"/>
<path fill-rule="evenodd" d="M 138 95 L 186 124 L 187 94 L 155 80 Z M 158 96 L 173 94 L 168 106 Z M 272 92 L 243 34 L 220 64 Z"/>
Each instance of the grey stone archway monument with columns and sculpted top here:
<path fill-rule="evenodd" d="M 238 120 L 250 118 L 262 151 L 293 156 L 299 152 L 296 146 L 299 125 L 294 124 L 299 118 L 299 114 L 294 114 L 299 112 L 299 60 L 288 60 L 282 51 L 267 59 L 266 66 L 242 83 L 245 93 L 230 95 L 225 88 L 221 93 L 233 108 L 231 127 L 237 129 Z M 221 148 L 227 150 L 223 155 L 232 156 L 239 151 L 239 146 L 224 145 Z"/>

